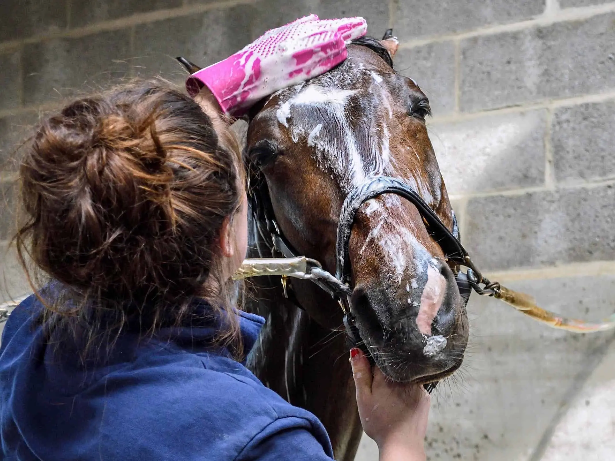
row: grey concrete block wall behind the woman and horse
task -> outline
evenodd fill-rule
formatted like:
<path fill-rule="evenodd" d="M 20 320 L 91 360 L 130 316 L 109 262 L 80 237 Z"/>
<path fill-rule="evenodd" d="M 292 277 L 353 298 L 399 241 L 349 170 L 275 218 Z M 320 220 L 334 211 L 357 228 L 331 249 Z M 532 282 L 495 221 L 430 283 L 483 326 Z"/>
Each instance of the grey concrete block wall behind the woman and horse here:
<path fill-rule="evenodd" d="M 132 76 L 180 82 L 300 15 L 394 28 L 462 238 L 491 278 L 581 318 L 615 312 L 615 2 L 4 0 L 0 302 L 27 291 L 7 240 L 13 150 L 40 113 Z M 461 371 L 436 390 L 429 459 L 615 459 L 615 336 L 575 336 L 473 296 Z M 363 439 L 357 460 L 376 459 Z"/>

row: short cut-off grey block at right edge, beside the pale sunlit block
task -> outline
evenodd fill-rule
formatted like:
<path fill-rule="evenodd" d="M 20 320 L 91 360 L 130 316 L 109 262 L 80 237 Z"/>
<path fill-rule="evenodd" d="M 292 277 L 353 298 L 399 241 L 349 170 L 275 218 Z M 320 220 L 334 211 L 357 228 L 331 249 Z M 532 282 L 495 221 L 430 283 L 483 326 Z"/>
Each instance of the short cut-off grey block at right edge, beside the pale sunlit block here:
<path fill-rule="evenodd" d="M 615 176 L 615 101 L 555 110 L 552 149 L 557 181 Z"/>

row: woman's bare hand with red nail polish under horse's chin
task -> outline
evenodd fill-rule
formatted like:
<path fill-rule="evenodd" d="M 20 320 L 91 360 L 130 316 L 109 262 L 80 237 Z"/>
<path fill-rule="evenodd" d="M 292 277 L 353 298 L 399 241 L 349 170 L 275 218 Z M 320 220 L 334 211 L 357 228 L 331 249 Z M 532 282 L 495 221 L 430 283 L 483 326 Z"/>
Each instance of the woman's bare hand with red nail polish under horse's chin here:
<path fill-rule="evenodd" d="M 352 376 L 363 430 L 379 449 L 380 461 L 425 459 L 429 394 L 418 384 L 387 382 L 360 349 L 351 350 Z"/>

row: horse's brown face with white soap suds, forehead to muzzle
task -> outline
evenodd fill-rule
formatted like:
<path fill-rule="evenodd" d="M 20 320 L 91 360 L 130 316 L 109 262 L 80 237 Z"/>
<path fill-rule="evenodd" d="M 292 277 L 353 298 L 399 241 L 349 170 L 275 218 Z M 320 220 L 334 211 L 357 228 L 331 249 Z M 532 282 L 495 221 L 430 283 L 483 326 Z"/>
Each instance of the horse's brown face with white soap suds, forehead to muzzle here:
<path fill-rule="evenodd" d="M 266 178 L 282 232 L 301 254 L 335 271 L 344 197 L 375 175 L 403 179 L 452 229 L 453 212 L 427 136 L 428 112 L 415 82 L 362 45 L 349 45 L 338 68 L 264 104 L 248 129 L 247 155 Z M 350 258 L 352 310 L 382 371 L 395 381 L 423 383 L 457 369 L 467 344 L 465 305 L 416 207 L 392 194 L 364 203 Z M 324 296 L 296 291 L 312 317 L 339 321 Z M 430 336 L 443 336 L 445 349 L 429 351 Z"/>

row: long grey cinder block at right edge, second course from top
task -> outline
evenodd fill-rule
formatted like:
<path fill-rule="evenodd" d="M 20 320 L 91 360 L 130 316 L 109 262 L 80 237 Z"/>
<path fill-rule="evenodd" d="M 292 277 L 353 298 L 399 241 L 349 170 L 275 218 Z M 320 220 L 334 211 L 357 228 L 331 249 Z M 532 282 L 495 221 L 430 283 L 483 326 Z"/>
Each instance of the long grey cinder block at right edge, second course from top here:
<path fill-rule="evenodd" d="M 461 110 L 615 88 L 615 14 L 461 42 Z"/>

